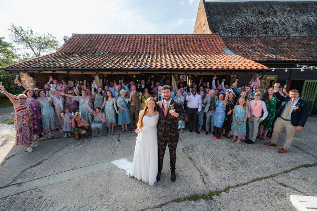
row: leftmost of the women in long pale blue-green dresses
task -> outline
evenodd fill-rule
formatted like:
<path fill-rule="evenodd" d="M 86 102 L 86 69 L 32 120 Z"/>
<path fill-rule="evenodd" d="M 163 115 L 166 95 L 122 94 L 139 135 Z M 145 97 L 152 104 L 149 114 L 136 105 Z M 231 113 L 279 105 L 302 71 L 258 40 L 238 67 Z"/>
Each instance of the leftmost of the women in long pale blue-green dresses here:
<path fill-rule="evenodd" d="M 52 99 L 45 97 L 45 90 L 39 90 L 40 98 L 36 101 L 41 108 L 41 119 L 43 125 L 43 131 L 47 138 L 53 138 L 52 129 L 60 128 L 55 110 L 52 107 Z"/>

